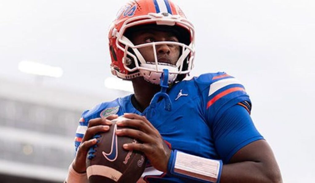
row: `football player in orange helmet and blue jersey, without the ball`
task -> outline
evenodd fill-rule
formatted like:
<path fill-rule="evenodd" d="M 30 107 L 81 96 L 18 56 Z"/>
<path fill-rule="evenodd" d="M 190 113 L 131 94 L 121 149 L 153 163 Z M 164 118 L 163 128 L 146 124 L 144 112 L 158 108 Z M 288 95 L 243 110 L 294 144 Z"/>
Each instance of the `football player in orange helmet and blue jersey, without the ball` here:
<path fill-rule="evenodd" d="M 195 31 L 170 0 L 132 0 L 109 31 L 112 74 L 133 83 L 134 94 L 84 111 L 67 182 L 87 181 L 85 160 L 117 116 L 118 136 L 145 153 L 146 182 L 282 182 L 271 148 L 250 117 L 244 86 L 227 73 L 185 79 L 195 57 Z M 93 172 L 90 172 L 90 174 Z"/>

